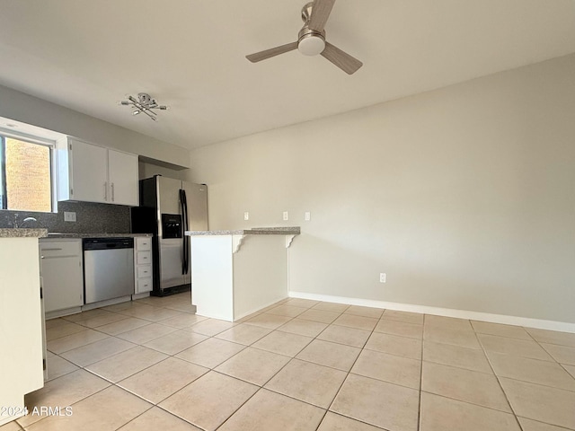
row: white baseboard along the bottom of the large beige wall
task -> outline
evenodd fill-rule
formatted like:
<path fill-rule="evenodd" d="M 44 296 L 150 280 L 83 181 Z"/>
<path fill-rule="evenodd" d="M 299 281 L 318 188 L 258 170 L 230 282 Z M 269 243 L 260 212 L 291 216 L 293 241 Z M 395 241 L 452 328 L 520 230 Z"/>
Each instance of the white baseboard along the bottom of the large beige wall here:
<path fill-rule="evenodd" d="M 326 303 L 347 303 L 349 305 L 361 305 L 364 307 L 386 308 L 399 312 L 420 312 L 425 314 L 435 314 L 445 317 L 456 317 L 459 319 L 469 319 L 472 321 L 490 321 L 491 323 L 503 323 L 506 325 L 526 326 L 539 330 L 560 330 L 562 332 L 574 332 L 575 323 L 566 321 L 544 321 L 543 319 L 531 319 L 528 317 L 508 316 L 505 314 L 491 314 L 489 312 L 470 312 L 467 310 L 456 310 L 452 308 L 429 307 L 428 305 L 416 305 L 411 303 L 388 303 L 386 301 L 375 301 L 371 299 L 349 298 L 346 296 L 318 295 L 305 292 L 289 292 L 292 298 L 312 299 Z"/>

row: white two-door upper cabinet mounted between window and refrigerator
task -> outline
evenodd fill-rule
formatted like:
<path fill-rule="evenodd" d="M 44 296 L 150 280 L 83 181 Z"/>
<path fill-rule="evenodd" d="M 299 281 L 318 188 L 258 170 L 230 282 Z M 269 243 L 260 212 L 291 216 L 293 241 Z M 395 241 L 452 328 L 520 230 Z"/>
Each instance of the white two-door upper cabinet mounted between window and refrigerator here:
<path fill-rule="evenodd" d="M 58 200 L 137 207 L 137 155 L 75 138 L 57 150 Z"/>

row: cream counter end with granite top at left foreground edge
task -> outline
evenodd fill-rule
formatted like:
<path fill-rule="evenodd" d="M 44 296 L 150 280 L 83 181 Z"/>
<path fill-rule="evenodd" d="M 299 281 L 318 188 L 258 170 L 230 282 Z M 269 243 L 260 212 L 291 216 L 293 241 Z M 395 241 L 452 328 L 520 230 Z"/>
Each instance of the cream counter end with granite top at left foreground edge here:
<path fill-rule="evenodd" d="M 44 384 L 38 239 L 46 229 L 0 229 L 0 426 L 24 415 Z"/>

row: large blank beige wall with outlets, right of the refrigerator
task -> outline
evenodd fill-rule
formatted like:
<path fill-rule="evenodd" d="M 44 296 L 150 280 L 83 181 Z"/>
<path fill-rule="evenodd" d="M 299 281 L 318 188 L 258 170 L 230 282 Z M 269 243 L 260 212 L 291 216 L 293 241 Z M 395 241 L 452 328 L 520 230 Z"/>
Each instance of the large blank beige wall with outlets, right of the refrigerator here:
<path fill-rule="evenodd" d="M 210 145 L 190 180 L 211 229 L 302 226 L 294 291 L 575 322 L 574 76 L 562 57 Z"/>

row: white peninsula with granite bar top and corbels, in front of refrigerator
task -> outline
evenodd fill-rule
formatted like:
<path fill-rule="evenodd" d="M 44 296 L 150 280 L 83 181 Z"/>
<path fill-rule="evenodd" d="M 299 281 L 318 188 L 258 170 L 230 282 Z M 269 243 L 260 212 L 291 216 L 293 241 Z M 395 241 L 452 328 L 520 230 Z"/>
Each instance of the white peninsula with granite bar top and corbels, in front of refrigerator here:
<path fill-rule="evenodd" d="M 237 321 L 288 297 L 288 253 L 299 227 L 188 231 L 198 314 Z"/>

